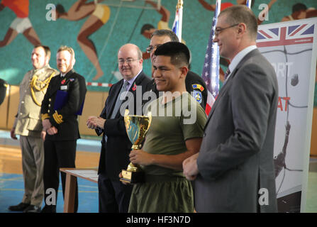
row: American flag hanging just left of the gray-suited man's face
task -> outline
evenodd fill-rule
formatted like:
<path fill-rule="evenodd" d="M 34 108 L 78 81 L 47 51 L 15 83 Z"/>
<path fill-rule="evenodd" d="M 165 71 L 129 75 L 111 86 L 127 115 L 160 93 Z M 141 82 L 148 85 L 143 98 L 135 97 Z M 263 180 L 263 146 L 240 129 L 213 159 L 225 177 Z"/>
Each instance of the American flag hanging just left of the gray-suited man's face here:
<path fill-rule="evenodd" d="M 206 104 L 206 114 L 211 111 L 211 107 L 216 100 L 219 92 L 219 47 L 218 43 L 213 43 L 214 32 L 217 25 L 218 15 L 220 13 L 221 0 L 216 1 L 216 10 L 213 16 L 213 25 L 208 40 L 205 62 L 201 77 L 206 82 L 208 88 L 208 97 Z"/>

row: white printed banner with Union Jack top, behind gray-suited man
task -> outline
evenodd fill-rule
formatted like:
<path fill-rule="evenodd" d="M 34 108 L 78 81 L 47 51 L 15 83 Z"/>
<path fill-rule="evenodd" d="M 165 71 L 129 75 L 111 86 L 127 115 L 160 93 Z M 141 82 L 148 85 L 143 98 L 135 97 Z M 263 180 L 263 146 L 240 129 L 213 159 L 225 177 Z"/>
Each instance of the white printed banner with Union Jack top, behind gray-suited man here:
<path fill-rule="evenodd" d="M 279 212 L 304 212 L 316 70 L 317 18 L 259 26 L 257 47 L 279 84 L 274 165 Z"/>

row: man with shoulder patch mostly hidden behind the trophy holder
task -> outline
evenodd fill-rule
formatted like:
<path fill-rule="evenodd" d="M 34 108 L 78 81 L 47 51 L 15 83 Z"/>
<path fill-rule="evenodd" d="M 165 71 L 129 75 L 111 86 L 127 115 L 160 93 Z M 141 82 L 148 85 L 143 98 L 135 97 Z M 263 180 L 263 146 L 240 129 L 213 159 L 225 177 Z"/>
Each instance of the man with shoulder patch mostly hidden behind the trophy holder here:
<path fill-rule="evenodd" d="M 154 52 L 157 46 L 167 42 L 179 42 L 177 35 L 170 30 L 160 29 L 156 30 L 151 35 L 150 45 L 147 48 L 147 52 L 150 53 L 151 61 L 153 62 Z M 204 79 L 199 77 L 198 74 L 189 71 L 185 79 L 186 90 L 189 92 L 196 101 L 199 102 L 203 109 L 206 109 L 207 101 L 207 87 Z M 160 92 L 157 90 L 154 79 L 148 84 L 148 91 L 155 92 L 157 98 L 160 96 Z"/>

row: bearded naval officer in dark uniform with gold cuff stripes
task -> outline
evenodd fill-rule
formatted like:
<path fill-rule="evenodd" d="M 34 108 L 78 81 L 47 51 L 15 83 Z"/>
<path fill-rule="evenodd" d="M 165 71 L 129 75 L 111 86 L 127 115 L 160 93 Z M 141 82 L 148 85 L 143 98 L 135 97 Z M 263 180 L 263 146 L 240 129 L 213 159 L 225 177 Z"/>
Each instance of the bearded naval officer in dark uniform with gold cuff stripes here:
<path fill-rule="evenodd" d="M 60 75 L 53 77 L 48 85 L 40 109 L 44 141 L 44 189 L 45 207 L 42 212 L 56 212 L 59 172 L 61 167 L 75 167 L 77 139 L 80 138 L 77 115 L 81 114 L 87 92 L 84 77 L 73 70 L 74 50 L 62 46 L 57 50 L 57 68 Z M 65 173 L 61 173 L 62 192 L 65 194 Z M 55 198 L 48 189 L 55 190 Z M 50 193 L 49 193 L 50 192 Z M 74 212 L 78 208 L 78 189 Z"/>

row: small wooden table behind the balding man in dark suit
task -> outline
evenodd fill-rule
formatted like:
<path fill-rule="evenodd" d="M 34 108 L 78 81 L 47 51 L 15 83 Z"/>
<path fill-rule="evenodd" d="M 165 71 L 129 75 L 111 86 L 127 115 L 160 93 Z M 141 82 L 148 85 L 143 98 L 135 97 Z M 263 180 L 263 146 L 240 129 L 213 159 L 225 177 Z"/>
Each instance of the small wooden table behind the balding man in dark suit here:
<path fill-rule="evenodd" d="M 98 183 L 97 169 L 60 168 L 66 174 L 64 213 L 74 213 L 75 189 L 77 177 Z"/>

